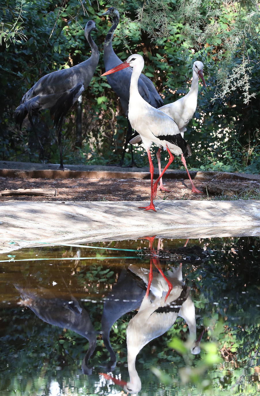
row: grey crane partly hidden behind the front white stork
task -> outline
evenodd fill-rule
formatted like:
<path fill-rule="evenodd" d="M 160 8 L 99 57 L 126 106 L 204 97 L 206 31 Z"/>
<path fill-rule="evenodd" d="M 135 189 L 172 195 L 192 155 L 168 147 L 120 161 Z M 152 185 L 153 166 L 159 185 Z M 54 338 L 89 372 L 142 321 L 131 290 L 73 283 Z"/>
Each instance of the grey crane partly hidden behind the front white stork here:
<path fill-rule="evenodd" d="M 122 63 L 121 59 L 119 59 L 119 57 L 116 55 L 112 47 L 112 38 L 114 31 L 118 26 L 120 15 L 118 10 L 114 7 L 108 8 L 108 10 L 102 15 L 109 15 L 112 20 L 112 26 L 108 30 L 108 33 L 104 41 L 104 66 L 105 66 L 105 70 L 108 71 Z M 132 75 L 132 69 L 123 69 L 120 70 L 116 76 L 114 75 L 107 76 L 108 83 L 110 84 L 113 91 L 116 92 L 116 94 L 119 96 L 120 103 L 126 117 L 128 116 L 129 89 L 130 89 L 131 75 Z M 152 107 L 158 108 L 163 106 L 163 100 L 160 97 L 158 91 L 156 90 L 154 84 L 152 83 L 150 78 L 148 78 L 144 74 L 140 74 L 138 80 L 138 90 L 142 98 L 146 102 L 148 102 Z M 127 121 L 128 121 L 128 130 L 127 130 L 125 145 L 123 148 L 123 154 L 119 166 L 122 166 L 123 164 L 125 150 L 127 144 L 129 143 L 129 139 L 132 135 L 132 127 L 128 118 Z M 133 148 L 131 147 L 132 164 L 130 166 L 133 166 L 132 150 Z"/>

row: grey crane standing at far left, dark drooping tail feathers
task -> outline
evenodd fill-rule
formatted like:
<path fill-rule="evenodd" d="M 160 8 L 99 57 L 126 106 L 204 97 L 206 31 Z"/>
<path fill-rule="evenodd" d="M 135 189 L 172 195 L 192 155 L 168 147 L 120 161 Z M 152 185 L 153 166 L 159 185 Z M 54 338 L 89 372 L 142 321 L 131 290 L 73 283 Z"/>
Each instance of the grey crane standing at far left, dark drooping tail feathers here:
<path fill-rule="evenodd" d="M 64 118 L 68 110 L 89 85 L 99 62 L 99 51 L 91 37 L 92 30 L 97 30 L 95 22 L 88 21 L 84 34 L 91 47 L 91 56 L 89 59 L 69 69 L 56 70 L 40 78 L 25 93 L 21 104 L 15 109 L 13 114 L 17 128 L 21 129 L 23 120 L 28 114 L 30 123 L 35 130 L 32 116 L 40 112 L 40 110 L 50 109 L 51 114 L 54 116 L 54 126 L 60 147 L 60 169 L 63 169 L 61 127 Z"/>

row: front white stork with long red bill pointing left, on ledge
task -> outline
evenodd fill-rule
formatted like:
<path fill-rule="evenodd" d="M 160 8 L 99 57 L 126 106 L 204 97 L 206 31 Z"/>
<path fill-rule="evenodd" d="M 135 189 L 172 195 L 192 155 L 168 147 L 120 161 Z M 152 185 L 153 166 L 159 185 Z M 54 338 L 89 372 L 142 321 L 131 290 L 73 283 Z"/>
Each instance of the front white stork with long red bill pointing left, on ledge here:
<path fill-rule="evenodd" d="M 135 129 L 142 138 L 142 143 L 144 144 L 148 154 L 151 173 L 150 205 L 142 207 L 142 209 L 152 209 L 156 212 L 153 198 L 156 196 L 159 179 L 174 160 L 173 154 L 183 153 L 185 156 L 189 156 L 191 155 L 191 150 L 190 146 L 183 139 L 176 122 L 171 117 L 167 116 L 167 114 L 152 107 L 141 97 L 137 85 L 138 78 L 144 67 L 144 59 L 141 55 L 134 54 L 129 56 L 125 62 L 121 63 L 121 65 L 108 70 L 102 74 L 102 76 L 112 74 L 129 66 L 133 67 L 133 72 L 130 83 L 128 118 L 132 128 Z M 152 143 L 155 143 L 158 147 L 166 147 L 170 155 L 168 164 L 165 166 L 154 185 L 154 166 L 152 164 L 152 158 L 149 150 Z"/>

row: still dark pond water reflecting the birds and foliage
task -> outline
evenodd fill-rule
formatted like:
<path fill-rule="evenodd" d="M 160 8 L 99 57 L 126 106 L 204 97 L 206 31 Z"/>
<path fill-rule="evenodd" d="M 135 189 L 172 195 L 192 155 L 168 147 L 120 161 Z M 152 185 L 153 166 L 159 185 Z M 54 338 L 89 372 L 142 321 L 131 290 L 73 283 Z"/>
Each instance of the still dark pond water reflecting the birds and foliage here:
<path fill-rule="evenodd" d="M 127 394 L 100 373 L 129 381 L 126 329 L 156 256 L 145 238 L 85 246 L 0 255 L 1 396 Z M 205 332 L 201 352 L 192 354 L 188 326 L 178 316 L 144 346 L 135 365 L 139 395 L 258 394 L 259 249 L 259 237 L 160 241 L 152 263 L 182 276 L 197 337 Z M 161 293 L 161 275 L 153 270 L 148 298 Z M 152 327 L 143 322 L 131 333 L 137 342 L 165 326 L 167 313 L 154 315 Z"/>

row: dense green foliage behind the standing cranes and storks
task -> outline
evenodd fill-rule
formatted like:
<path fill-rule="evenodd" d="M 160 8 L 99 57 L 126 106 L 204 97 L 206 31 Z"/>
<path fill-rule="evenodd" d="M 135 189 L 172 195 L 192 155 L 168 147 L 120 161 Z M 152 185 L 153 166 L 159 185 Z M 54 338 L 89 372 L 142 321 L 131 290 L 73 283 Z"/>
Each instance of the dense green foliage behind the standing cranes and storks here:
<path fill-rule="evenodd" d="M 25 121 L 23 131 L 17 132 L 13 110 L 41 76 L 89 57 L 82 27 L 93 19 L 99 28 L 93 38 L 101 56 L 83 95 L 82 137 L 76 130 L 76 105 L 66 118 L 65 163 L 117 162 L 127 121 L 115 93 L 100 77 L 104 71 L 102 46 L 110 27 L 101 15 L 111 5 L 121 15 L 113 40 L 116 53 L 122 60 L 129 51 L 144 54 L 144 73 L 152 79 L 165 104 L 188 92 L 196 59 L 205 65 L 207 88 L 200 89 L 197 112 L 185 136 L 192 146 L 190 166 L 259 172 L 259 14 L 254 0 L 1 3 L 0 159 L 40 160 L 30 124 Z M 4 29 L 10 25 L 14 26 L 13 36 L 7 38 Z M 38 117 L 37 128 L 46 159 L 59 162 L 48 111 Z M 144 151 L 135 151 L 139 165 L 146 164 Z M 175 164 L 181 164 L 179 158 Z"/>

